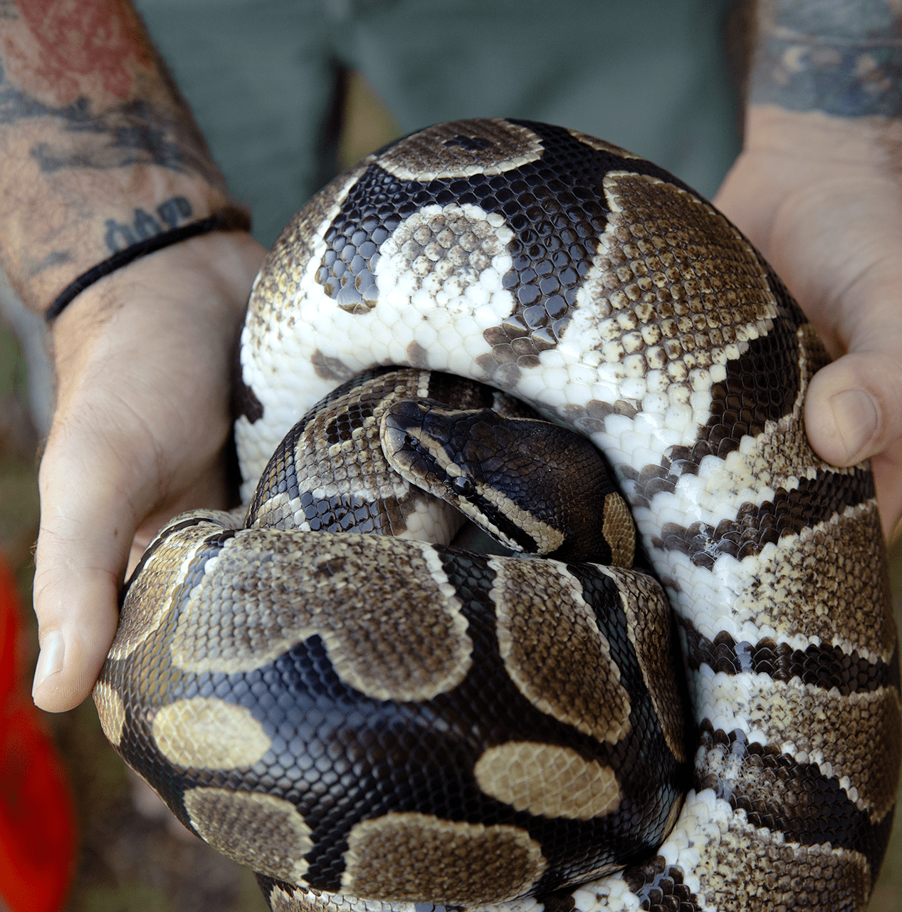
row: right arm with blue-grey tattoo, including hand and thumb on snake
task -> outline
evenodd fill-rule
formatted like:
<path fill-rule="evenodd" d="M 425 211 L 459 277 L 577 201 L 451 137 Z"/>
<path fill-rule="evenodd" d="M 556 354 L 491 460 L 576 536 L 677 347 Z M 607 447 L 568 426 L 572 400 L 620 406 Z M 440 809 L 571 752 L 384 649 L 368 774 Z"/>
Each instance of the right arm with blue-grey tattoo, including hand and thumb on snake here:
<path fill-rule="evenodd" d="M 716 202 L 764 251 L 838 358 L 808 436 L 872 457 L 902 512 L 902 3 L 759 0 L 744 150 Z"/>

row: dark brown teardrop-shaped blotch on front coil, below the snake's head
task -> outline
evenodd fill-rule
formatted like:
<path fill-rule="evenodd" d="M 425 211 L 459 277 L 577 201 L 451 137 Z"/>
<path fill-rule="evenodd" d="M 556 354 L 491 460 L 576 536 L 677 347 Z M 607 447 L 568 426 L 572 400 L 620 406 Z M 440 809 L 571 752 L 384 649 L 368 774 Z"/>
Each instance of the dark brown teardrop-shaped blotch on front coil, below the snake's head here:
<path fill-rule="evenodd" d="M 563 565 L 489 560 L 498 651 L 540 712 L 613 744 L 630 732 L 630 695 L 582 587 Z"/>

